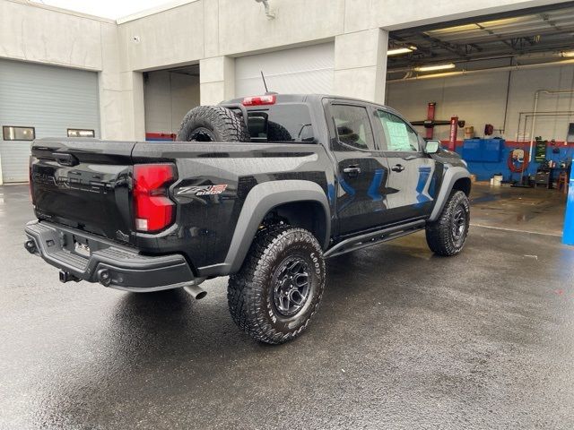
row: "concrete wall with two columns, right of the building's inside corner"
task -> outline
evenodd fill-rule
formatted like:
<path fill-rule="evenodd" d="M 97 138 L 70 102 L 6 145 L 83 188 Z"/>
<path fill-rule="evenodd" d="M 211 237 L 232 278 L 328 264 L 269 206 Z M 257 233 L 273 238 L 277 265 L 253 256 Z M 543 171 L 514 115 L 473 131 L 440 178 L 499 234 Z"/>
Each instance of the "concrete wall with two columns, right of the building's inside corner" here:
<path fill-rule="evenodd" d="M 335 40 L 333 92 L 382 101 L 387 30 L 548 1 L 438 0 L 429 6 L 424 0 L 414 0 L 409 7 L 402 0 L 271 0 L 270 4 L 274 20 L 267 20 L 263 5 L 252 0 L 196 0 L 126 20 L 119 26 L 122 56 L 128 59 L 130 70 L 200 61 L 201 101 L 216 103 L 235 96 L 233 57 Z"/>

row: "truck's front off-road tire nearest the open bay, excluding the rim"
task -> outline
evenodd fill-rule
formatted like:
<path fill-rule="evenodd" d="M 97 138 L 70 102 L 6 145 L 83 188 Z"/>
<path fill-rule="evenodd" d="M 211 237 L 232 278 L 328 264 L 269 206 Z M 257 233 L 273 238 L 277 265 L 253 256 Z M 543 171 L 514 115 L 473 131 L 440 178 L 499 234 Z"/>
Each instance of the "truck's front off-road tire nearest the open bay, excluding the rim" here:
<path fill-rule="evenodd" d="M 460 236 L 454 233 L 455 217 L 459 211 L 464 212 L 463 231 Z M 470 205 L 468 197 L 462 191 L 453 190 L 445 203 L 439 219 L 426 226 L 427 244 L 435 254 L 451 256 L 458 254 L 465 246 L 470 223 Z"/>

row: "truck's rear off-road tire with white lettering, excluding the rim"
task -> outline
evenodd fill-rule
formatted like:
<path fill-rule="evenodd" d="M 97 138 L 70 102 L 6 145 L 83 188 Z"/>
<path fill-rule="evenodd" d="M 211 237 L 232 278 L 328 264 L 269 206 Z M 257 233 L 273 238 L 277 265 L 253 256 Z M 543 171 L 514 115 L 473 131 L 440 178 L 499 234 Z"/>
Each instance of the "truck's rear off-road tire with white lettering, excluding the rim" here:
<path fill-rule="evenodd" d="M 274 279 L 290 258 L 309 266 L 309 296 L 297 314 L 284 316 L 274 303 Z M 260 231 L 239 272 L 230 276 L 231 318 L 256 340 L 279 344 L 300 335 L 317 312 L 325 289 L 325 261 L 317 239 L 303 228 L 280 225 Z"/>

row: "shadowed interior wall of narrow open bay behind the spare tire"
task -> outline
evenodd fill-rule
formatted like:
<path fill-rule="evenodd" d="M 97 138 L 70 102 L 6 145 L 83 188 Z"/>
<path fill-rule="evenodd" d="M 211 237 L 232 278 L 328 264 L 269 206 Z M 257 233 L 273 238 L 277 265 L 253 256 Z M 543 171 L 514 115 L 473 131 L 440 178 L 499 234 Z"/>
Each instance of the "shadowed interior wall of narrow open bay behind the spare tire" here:
<path fill-rule="evenodd" d="M 178 133 L 181 120 L 199 105 L 199 77 L 158 71 L 143 81 L 146 133 Z"/>

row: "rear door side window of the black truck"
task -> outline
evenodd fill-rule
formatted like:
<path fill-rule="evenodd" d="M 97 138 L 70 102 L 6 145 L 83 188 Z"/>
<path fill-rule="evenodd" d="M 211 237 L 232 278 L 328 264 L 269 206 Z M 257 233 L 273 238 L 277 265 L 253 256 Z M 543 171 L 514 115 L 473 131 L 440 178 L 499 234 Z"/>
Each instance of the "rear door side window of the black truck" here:
<path fill-rule="evenodd" d="M 358 150 L 375 150 L 369 114 L 365 107 L 331 105 L 339 142 Z"/>

